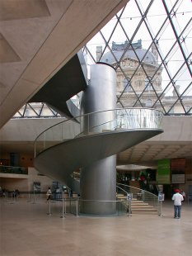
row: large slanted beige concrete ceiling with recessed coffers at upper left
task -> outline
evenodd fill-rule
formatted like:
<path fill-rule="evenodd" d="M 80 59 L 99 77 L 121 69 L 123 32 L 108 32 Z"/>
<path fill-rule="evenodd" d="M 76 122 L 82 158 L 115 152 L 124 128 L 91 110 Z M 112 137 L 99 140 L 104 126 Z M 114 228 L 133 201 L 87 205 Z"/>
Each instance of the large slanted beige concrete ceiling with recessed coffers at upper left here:
<path fill-rule="evenodd" d="M 0 128 L 129 0 L 1 0 Z"/>

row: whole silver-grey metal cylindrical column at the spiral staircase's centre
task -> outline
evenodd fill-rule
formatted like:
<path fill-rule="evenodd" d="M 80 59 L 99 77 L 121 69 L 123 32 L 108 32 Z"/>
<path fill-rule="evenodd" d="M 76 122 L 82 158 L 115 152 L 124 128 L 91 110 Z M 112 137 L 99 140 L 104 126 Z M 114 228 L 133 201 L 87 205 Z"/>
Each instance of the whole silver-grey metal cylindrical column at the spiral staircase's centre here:
<path fill-rule="evenodd" d="M 82 131 L 98 132 L 110 129 L 111 117 L 116 107 L 116 73 L 110 65 L 95 64 L 91 66 L 91 79 L 83 92 L 82 114 L 105 111 L 82 119 Z M 111 116 L 112 115 L 112 116 Z M 113 119 L 113 118 L 112 118 Z M 94 127 L 94 129 L 93 129 Z M 83 149 L 82 149 L 83 150 Z M 94 148 L 91 149 L 94 154 Z M 81 208 L 85 214 L 112 215 L 116 211 L 116 155 L 101 159 L 82 168 Z"/>

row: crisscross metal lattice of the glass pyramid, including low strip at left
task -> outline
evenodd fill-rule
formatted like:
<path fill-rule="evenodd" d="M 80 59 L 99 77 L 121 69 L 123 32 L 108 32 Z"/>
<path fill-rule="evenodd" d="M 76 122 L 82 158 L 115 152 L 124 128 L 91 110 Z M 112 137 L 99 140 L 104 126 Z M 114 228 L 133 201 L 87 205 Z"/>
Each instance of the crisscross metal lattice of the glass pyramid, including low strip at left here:
<path fill-rule="evenodd" d="M 191 13 L 190 1 L 130 0 L 126 7 L 84 46 L 83 51 L 86 52 L 88 59 L 87 65 L 103 61 L 105 54 L 110 52 L 114 61 L 109 64 L 112 64 L 115 70 L 124 76 L 123 81 L 127 81 L 117 95 L 118 107 L 127 107 L 124 98 L 128 97 L 129 101 L 129 93 L 133 99 L 132 102 L 129 102 L 132 104 L 129 107 L 146 107 L 143 99 L 148 95 L 148 100 L 151 101 L 150 95 L 152 95 L 151 107 L 161 110 L 164 115 L 192 115 Z M 121 56 L 117 58 L 112 49 L 112 43 L 123 43 L 125 40 L 128 45 Z M 134 48 L 134 42 L 138 40 L 142 40 L 144 44 L 145 53 L 142 57 Z M 96 45 L 102 46 L 99 59 L 96 56 Z M 158 58 L 153 71 L 149 73 L 145 59 L 152 54 L 152 46 L 155 47 Z M 132 50 L 135 56 L 134 60 L 137 61 L 137 66 L 131 75 L 126 73 L 121 65 L 128 50 Z M 147 84 L 138 92 L 137 88 L 133 86 L 133 80 L 139 72 L 143 73 L 144 81 L 148 81 L 148 83 L 146 82 Z M 162 73 L 161 92 L 157 91 L 155 87 L 158 73 Z M 150 86 L 150 90 L 148 90 L 148 86 Z M 26 104 L 14 117 L 60 117 L 46 104 L 38 103 L 39 107 L 36 104 Z"/>

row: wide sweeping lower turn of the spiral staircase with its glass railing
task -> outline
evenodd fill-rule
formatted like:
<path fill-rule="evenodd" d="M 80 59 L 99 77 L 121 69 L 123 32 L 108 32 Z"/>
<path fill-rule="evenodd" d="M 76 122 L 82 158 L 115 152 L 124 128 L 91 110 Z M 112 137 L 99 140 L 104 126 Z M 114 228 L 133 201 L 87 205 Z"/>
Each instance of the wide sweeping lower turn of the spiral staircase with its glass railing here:
<path fill-rule="evenodd" d="M 83 131 L 77 120 L 82 117 L 91 120 L 103 111 L 76 116 L 45 130 L 35 140 L 35 168 L 79 193 L 79 181 L 73 178 L 74 171 L 119 154 L 163 131 L 160 111 L 124 108 L 108 112 L 109 121 L 94 127 L 87 121 Z"/>

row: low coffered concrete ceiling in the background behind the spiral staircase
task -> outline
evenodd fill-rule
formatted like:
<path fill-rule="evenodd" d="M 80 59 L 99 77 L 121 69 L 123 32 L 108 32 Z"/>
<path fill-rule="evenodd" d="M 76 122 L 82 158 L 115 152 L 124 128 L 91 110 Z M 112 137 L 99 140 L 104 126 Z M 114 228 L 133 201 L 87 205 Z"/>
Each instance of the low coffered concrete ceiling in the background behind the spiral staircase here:
<path fill-rule="evenodd" d="M 4 141 L 1 143 L 2 152 L 14 152 L 18 154 L 34 155 L 34 141 Z M 192 163 L 191 142 L 154 142 L 144 141 L 117 155 L 117 166 L 119 169 L 128 169 L 129 164 L 157 168 L 159 159 L 190 159 Z M 132 169 L 132 168 L 131 168 Z M 140 170 L 140 168 L 138 168 Z M 137 170 L 137 168 L 136 168 Z"/>

